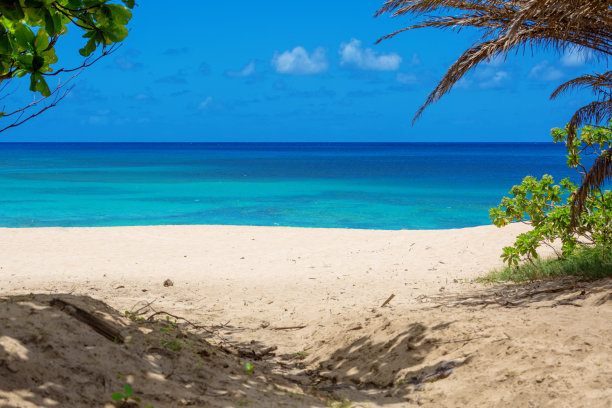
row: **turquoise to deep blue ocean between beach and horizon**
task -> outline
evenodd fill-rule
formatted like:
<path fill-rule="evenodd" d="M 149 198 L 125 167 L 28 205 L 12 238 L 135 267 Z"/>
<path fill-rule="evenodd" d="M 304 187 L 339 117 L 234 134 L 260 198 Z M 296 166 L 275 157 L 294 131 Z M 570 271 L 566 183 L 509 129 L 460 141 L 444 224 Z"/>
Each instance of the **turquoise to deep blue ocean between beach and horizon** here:
<path fill-rule="evenodd" d="M 0 226 L 489 224 L 552 143 L 3 143 Z"/>

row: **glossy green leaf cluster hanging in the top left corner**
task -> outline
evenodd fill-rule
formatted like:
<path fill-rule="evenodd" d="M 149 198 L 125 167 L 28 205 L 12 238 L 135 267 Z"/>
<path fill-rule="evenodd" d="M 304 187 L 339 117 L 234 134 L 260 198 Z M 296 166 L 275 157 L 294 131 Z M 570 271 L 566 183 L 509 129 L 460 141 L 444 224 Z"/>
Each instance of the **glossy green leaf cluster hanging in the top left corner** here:
<path fill-rule="evenodd" d="M 57 73 L 55 44 L 73 25 L 87 41 L 79 53 L 123 41 L 134 0 L 0 0 L 0 81 L 30 76 L 30 90 L 49 96 Z"/>

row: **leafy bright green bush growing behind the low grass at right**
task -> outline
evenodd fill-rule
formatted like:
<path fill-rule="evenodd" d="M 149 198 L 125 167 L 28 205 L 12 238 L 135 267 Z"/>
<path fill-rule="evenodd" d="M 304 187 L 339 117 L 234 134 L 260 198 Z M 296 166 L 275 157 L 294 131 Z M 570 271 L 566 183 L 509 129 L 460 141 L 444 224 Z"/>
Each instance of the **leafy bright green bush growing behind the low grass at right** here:
<path fill-rule="evenodd" d="M 568 142 L 568 127 L 551 131 L 555 143 L 566 143 L 567 165 L 583 177 L 587 170 L 582 165 L 585 156 L 601 157 L 612 146 L 612 120 L 607 126 L 585 126 Z M 511 197 L 504 197 L 498 207 L 489 210 L 492 223 L 498 227 L 511 222 L 523 222 L 533 229 L 520 234 L 514 245 L 503 249 L 502 258 L 509 266 L 521 260 L 538 257 L 537 249 L 556 240 L 561 252 L 554 247 L 559 258 L 567 258 L 583 248 L 595 248 L 602 256 L 612 247 L 612 192 L 601 187 L 590 191 L 582 211 L 572 225 L 571 205 L 577 186 L 568 178 L 555 184 L 552 176 L 540 180 L 527 176 L 520 185 L 512 187 Z"/>

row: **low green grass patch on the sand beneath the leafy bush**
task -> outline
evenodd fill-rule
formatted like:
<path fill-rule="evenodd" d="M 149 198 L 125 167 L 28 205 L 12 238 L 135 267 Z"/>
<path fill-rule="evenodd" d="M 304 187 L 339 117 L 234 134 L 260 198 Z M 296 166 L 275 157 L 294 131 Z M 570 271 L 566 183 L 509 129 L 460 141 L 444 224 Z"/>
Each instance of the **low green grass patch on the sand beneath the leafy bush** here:
<path fill-rule="evenodd" d="M 484 282 L 527 282 L 576 276 L 595 280 L 612 277 L 612 248 L 584 248 L 567 258 L 537 259 L 518 267 L 505 267 L 490 272 Z"/>

